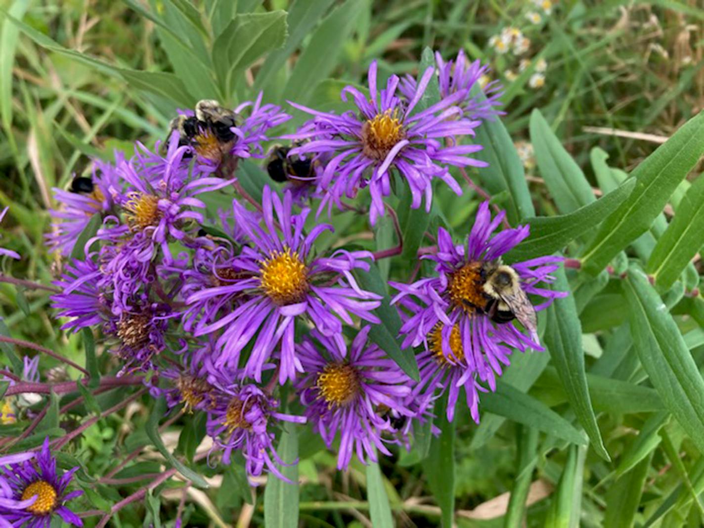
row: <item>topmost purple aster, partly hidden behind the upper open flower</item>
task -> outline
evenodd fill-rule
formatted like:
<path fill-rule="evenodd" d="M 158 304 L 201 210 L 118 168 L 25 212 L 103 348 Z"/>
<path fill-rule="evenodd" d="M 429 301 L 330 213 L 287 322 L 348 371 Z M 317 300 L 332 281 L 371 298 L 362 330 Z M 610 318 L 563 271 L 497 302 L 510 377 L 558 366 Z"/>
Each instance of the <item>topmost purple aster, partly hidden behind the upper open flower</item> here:
<path fill-rule="evenodd" d="M 503 95 L 501 84 L 498 81 L 487 82 L 482 87 L 485 97 L 472 94 L 474 85 L 478 86 L 482 77 L 489 73 L 489 65 L 482 65 L 479 59 L 474 62 L 467 61 L 463 49 L 460 49 L 454 61 L 447 62 L 443 61 L 442 56 L 436 51 L 435 61 L 438 69 L 440 96 L 445 98 L 458 92 L 463 93 L 464 97 L 458 101 L 457 105 L 462 108 L 465 117 L 484 120 L 493 119 L 495 115 L 503 114 L 497 108 L 502 104 L 499 97 Z M 406 75 L 401 80 L 398 89 L 410 101 L 417 91 L 417 82 L 410 75 Z"/>

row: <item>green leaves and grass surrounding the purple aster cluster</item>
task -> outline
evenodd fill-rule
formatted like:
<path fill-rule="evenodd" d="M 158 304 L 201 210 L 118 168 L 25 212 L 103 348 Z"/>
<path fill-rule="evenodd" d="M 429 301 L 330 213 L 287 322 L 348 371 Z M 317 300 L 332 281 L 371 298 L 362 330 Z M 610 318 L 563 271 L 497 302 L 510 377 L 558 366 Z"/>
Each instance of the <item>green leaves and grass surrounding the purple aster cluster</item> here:
<path fill-rule="evenodd" d="M 519 526 L 526 496 L 529 526 L 703 523 L 704 180 L 696 177 L 704 151 L 704 9 L 696 0 L 570 0 L 549 14 L 531 6 L 541 13 L 534 24 L 527 4 L 2 2 L 0 205 L 10 210 L 1 232 L 25 257 L 4 260 L 7 275 L 49 283 L 49 189 L 89 170 L 88 156 L 129 155 L 135 140 L 163 138 L 175 108 L 211 97 L 234 105 L 263 90 L 270 102 L 344 110 L 339 89 L 362 83 L 370 61 L 378 58 L 387 75 L 415 75 L 427 46 L 446 57 L 463 48 L 491 63 L 505 85 L 507 114 L 479 132 L 491 168 L 477 176 L 510 222 L 532 225 L 514 257 L 564 249 L 581 266 L 558 281 L 574 295 L 541 315 L 549 353 L 513 357 L 497 393 L 482 399 L 479 427 L 460 414 L 456 430 L 346 474 L 320 441 L 291 427 L 278 449 L 284 460 L 298 453 L 301 462 L 284 472 L 302 482 L 299 489 L 272 480 L 253 493 L 236 466 L 213 477 L 201 463 L 186 477 L 202 474 L 210 487 L 191 487 L 184 524 L 257 526 L 266 515 L 268 526 L 291 526 L 299 509 L 304 526 L 423 526 L 451 515 L 460 526 Z M 490 44 L 510 25 L 530 39 L 521 56 Z M 544 85 L 534 87 L 539 58 L 547 70 Z M 294 124 L 302 120 L 294 112 Z M 534 157 L 513 142 L 532 142 Z M 243 185 L 256 194 L 263 176 L 251 171 Z M 436 203 L 447 225 L 467 232 L 476 196 L 441 192 Z M 389 223 L 380 222 L 374 240 L 365 222 L 339 218 L 337 236 L 370 249 L 393 243 Z M 396 265 L 382 262 L 379 273 L 387 277 Z M 44 291 L 0 284 L 7 327 L 0 333 L 9 328 L 84 364 L 89 346 L 58 330 L 48 302 Z M 8 360 L 18 352 L 3 350 Z M 96 367 L 105 362 L 99 353 Z M 42 357 L 43 372 L 56 365 Z M 87 398 L 83 415 L 100 415 L 122 397 Z M 66 401 L 49 401 L 25 446 L 75 428 L 59 420 Z M 164 457 L 194 467 L 203 425 L 180 420 L 158 430 L 155 416 L 153 400 L 139 398 L 65 449 L 67 466 L 82 465 L 84 509 L 106 510 L 137 491 L 149 480 L 132 477 L 160 472 Z M 3 425 L 0 435 L 25 426 Z M 106 477 L 116 460 L 149 445 L 156 449 Z M 151 489 L 114 525 L 172 526 L 181 485 Z"/>

